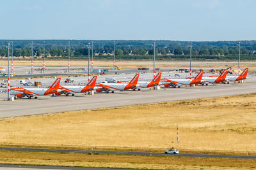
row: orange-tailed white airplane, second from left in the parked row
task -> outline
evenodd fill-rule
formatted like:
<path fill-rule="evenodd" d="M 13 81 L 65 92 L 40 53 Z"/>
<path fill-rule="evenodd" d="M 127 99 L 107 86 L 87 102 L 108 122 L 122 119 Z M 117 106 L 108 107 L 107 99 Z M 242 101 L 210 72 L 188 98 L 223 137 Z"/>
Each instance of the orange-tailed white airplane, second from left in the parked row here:
<path fill-rule="evenodd" d="M 61 90 L 61 92 L 56 92 L 55 94 L 58 96 L 60 96 L 61 94 L 65 94 L 66 96 L 68 96 L 69 94 L 72 94 L 72 96 L 75 96 L 74 93 L 90 92 L 94 90 L 96 80 L 97 80 L 97 76 L 93 76 L 91 81 L 86 86 L 81 86 L 81 85 L 61 86 L 60 85 L 59 89 Z"/>

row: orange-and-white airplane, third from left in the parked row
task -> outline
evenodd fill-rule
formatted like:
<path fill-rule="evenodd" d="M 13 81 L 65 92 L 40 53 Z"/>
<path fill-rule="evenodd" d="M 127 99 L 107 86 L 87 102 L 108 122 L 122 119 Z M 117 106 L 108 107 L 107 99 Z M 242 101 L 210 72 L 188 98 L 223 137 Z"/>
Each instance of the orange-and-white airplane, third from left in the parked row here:
<path fill-rule="evenodd" d="M 105 91 L 109 93 L 109 91 L 111 91 L 112 93 L 114 93 L 114 90 L 136 90 L 136 85 L 138 83 L 139 76 L 140 74 L 137 73 L 129 83 L 96 83 L 96 86 L 98 87 L 96 89 L 96 92 Z"/>

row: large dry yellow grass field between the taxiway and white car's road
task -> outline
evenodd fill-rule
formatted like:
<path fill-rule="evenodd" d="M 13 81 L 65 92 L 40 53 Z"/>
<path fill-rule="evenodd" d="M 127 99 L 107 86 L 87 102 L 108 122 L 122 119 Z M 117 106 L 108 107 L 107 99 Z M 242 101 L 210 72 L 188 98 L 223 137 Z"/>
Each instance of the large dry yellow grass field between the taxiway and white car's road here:
<path fill-rule="evenodd" d="M 2 118 L 0 145 L 175 147 L 251 154 L 256 151 L 255 113 L 256 96 L 248 94 Z"/>

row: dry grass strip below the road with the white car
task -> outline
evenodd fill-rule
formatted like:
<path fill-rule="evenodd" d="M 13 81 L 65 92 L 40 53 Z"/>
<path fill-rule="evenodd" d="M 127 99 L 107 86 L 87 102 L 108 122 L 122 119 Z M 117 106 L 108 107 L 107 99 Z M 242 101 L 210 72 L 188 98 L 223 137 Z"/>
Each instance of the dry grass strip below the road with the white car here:
<path fill-rule="evenodd" d="M 255 169 L 253 159 L 154 157 L 0 151 L 0 164 L 113 167 L 132 169 Z"/>

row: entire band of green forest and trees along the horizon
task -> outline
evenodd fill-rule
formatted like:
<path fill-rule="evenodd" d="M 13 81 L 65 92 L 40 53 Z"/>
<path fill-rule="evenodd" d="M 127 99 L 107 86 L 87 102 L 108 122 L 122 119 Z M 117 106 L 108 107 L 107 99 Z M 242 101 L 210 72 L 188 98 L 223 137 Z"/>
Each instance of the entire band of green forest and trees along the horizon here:
<path fill-rule="evenodd" d="M 70 58 L 86 59 L 88 43 L 92 54 L 92 40 L 0 40 L 0 57 L 8 56 L 7 44 L 11 43 L 10 55 L 15 57 L 31 56 L 31 41 L 33 41 L 33 56 L 40 59 L 43 55 L 45 42 L 45 57 L 52 59 L 67 59 L 68 41 L 70 41 Z M 238 56 L 238 43 L 241 45 L 241 59 L 256 59 L 256 41 L 194 41 L 192 42 L 193 59 L 197 60 L 234 60 Z M 153 40 L 116 40 L 115 55 L 118 60 L 143 59 L 150 60 L 154 55 L 158 60 L 187 60 L 190 55 L 190 41 L 153 41 Z M 113 59 L 114 43 L 111 40 L 93 40 L 94 59 Z"/>

